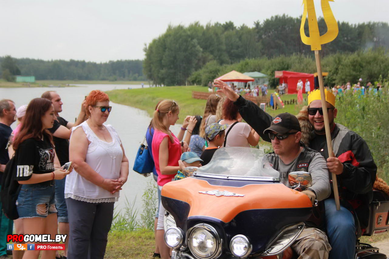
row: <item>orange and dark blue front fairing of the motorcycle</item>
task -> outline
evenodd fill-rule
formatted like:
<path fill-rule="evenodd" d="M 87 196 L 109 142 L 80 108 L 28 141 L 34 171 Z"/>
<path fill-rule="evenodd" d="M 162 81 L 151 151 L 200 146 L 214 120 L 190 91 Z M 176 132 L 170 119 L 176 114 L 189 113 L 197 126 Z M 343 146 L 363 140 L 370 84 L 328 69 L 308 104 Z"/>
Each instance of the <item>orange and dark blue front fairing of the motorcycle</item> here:
<path fill-rule="evenodd" d="M 216 196 L 207 191 L 228 191 Z M 184 232 L 198 222 L 213 224 L 224 237 L 241 234 L 251 239 L 252 254 L 263 251 L 280 229 L 305 221 L 312 212 L 310 199 L 279 182 L 187 177 L 163 186 L 162 203 Z"/>

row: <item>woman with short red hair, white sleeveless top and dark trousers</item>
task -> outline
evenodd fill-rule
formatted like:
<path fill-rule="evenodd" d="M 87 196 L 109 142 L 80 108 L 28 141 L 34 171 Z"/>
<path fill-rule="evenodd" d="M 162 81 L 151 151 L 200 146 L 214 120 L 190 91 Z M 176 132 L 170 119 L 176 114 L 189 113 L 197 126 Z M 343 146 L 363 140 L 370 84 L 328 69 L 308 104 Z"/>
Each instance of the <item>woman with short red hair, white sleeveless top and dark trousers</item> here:
<path fill-rule="evenodd" d="M 68 258 L 103 259 L 114 203 L 127 181 L 128 160 L 116 130 L 103 124 L 112 108 L 108 95 L 93 90 L 85 105 L 88 120 L 72 129 L 69 145 L 75 170 L 65 183 Z"/>

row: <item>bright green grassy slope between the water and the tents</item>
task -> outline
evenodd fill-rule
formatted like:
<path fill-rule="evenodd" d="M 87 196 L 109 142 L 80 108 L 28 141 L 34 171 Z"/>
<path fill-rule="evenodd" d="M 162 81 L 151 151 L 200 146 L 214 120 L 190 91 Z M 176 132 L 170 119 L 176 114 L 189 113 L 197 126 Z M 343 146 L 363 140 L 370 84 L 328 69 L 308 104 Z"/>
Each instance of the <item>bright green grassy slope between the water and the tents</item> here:
<path fill-rule="evenodd" d="M 119 89 L 108 91 L 109 98 L 114 103 L 120 103 L 132 106 L 141 110 L 147 111 L 152 116 L 155 105 L 163 99 L 173 99 L 180 106 L 180 120 L 186 115 L 203 115 L 206 100 L 192 98 L 192 91 L 208 92 L 207 87 L 201 86 L 172 86 L 172 87 L 156 87 L 143 89 Z M 269 94 L 274 92 L 270 90 Z M 285 100 L 296 99 L 297 94 L 289 94 L 282 97 Z M 282 112 L 297 114 L 301 106 L 296 104 L 286 105 L 285 108 L 272 110 L 266 107 L 266 111 L 270 115 L 277 115 Z"/>

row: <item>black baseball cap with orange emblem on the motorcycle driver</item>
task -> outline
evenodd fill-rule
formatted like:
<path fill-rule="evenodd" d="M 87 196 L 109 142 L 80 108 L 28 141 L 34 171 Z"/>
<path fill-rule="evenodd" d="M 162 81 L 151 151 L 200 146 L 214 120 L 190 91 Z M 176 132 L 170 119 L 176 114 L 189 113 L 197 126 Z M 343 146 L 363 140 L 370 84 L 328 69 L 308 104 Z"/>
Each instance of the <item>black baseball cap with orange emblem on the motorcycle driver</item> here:
<path fill-rule="evenodd" d="M 263 131 L 263 134 L 268 133 L 270 130 L 280 134 L 285 134 L 291 130 L 291 132 L 299 132 L 301 131 L 301 127 L 296 116 L 290 113 L 280 113 L 279 115 L 275 116 L 272 124 L 270 124 L 270 127 Z"/>

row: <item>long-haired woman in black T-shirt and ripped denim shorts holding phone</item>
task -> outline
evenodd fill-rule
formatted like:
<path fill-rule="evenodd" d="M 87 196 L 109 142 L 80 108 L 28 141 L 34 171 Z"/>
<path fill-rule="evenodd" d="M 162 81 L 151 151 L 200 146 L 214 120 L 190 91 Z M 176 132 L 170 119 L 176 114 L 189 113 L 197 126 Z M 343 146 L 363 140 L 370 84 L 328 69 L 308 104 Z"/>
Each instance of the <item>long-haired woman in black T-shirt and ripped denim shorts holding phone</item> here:
<path fill-rule="evenodd" d="M 16 179 L 21 189 L 16 202 L 25 233 L 57 234 L 54 179 L 63 179 L 70 171 L 59 168 L 53 137 L 54 108 L 51 101 L 35 98 L 27 106 L 24 122 L 13 147 L 18 165 Z M 31 242 L 33 243 L 33 242 Z M 56 251 L 43 251 L 42 259 L 55 257 Z M 26 250 L 23 257 L 39 257 L 39 250 Z"/>

